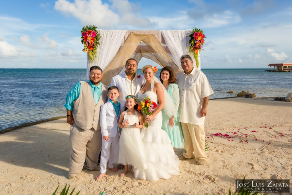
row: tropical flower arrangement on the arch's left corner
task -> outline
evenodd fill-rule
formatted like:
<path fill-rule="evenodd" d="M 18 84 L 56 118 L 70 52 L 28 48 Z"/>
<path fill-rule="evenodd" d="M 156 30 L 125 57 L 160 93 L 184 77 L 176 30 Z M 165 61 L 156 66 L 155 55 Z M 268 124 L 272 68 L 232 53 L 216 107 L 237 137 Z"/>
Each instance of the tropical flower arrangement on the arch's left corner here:
<path fill-rule="evenodd" d="M 96 61 L 97 46 L 100 45 L 100 34 L 98 34 L 97 27 L 94 25 L 86 25 L 81 30 L 81 43 L 84 45 L 83 52 L 87 51 L 87 54 L 91 60 Z"/>

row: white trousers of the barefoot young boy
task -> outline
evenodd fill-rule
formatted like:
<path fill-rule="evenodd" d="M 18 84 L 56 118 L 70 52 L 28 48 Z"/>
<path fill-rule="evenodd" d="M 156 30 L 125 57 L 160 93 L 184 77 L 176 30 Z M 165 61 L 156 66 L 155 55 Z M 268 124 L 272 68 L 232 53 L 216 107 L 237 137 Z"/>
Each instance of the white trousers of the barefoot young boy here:
<path fill-rule="evenodd" d="M 114 168 L 114 155 L 117 151 L 119 139 L 119 132 L 115 137 L 109 137 L 109 141 L 105 141 L 102 137 L 100 173 L 107 172 L 107 161 L 109 161 L 109 168 Z"/>

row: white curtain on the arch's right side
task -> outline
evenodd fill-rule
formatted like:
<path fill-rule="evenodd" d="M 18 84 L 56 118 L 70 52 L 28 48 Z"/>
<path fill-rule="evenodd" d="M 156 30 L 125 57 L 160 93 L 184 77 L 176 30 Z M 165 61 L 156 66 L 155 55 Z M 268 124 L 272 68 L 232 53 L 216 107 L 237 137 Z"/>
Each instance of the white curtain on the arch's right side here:
<path fill-rule="evenodd" d="M 165 40 L 165 45 L 168 47 L 171 54 L 172 61 L 182 70 L 180 65 L 180 57 L 184 54 L 189 54 L 189 40 L 190 37 L 187 37 L 192 33 L 192 29 L 187 30 L 160 30 L 162 37 Z M 200 56 L 200 52 L 199 52 Z M 194 62 L 193 66 L 196 67 L 196 61 L 191 55 Z M 199 68 L 201 70 L 201 59 L 199 57 Z"/>

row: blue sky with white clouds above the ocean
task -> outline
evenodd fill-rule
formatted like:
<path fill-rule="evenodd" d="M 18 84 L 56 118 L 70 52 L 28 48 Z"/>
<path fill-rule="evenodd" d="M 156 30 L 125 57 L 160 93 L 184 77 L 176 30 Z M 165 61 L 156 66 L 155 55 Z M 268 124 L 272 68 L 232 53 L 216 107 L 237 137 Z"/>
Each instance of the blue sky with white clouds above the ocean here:
<path fill-rule="evenodd" d="M 15 0 L 0 2 L 0 68 L 86 68 L 80 30 L 87 24 L 203 29 L 201 68 L 292 63 L 291 0 Z"/>

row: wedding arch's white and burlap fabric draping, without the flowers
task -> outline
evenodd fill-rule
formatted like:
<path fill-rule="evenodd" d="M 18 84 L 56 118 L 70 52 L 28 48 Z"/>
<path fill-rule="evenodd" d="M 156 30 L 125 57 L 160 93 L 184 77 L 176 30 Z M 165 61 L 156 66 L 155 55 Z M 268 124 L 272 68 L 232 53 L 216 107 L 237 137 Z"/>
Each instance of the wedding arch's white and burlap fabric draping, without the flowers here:
<path fill-rule="evenodd" d="M 155 61 L 162 67 L 168 65 L 178 74 L 182 69 L 180 56 L 188 54 L 192 29 L 187 30 L 102 30 L 97 47 L 98 65 L 103 70 L 102 83 L 108 85 L 113 76 L 119 74 L 129 58 L 139 61 L 142 57 Z M 192 57 L 193 58 L 193 57 Z M 87 79 L 91 60 L 87 55 Z M 201 69 L 199 57 L 199 70 Z"/>

